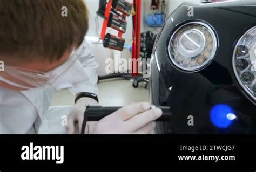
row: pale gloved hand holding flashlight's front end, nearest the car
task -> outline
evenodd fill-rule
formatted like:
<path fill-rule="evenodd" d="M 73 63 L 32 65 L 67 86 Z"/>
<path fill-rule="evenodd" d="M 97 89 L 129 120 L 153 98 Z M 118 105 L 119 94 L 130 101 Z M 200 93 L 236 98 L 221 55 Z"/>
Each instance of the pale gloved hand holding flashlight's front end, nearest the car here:
<path fill-rule="evenodd" d="M 147 102 L 131 104 L 106 116 L 96 123 L 91 134 L 154 134 L 156 121 L 162 111 L 150 109 Z"/>

